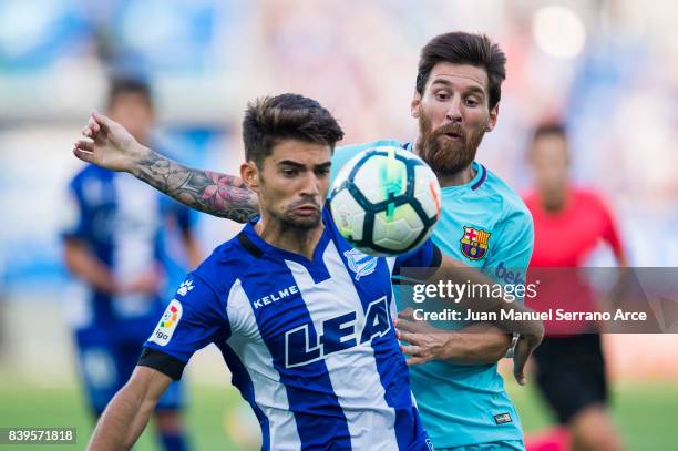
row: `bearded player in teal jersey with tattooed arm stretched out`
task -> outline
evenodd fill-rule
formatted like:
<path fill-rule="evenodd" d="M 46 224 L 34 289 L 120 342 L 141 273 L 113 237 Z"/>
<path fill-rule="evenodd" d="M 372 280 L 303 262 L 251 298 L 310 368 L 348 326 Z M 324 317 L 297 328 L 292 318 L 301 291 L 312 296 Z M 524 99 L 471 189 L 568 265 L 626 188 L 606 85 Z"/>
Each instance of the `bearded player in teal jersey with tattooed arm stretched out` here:
<path fill-rule="evenodd" d="M 502 285 L 524 283 L 534 240 L 525 204 L 475 161 L 484 134 L 496 124 L 505 61 L 503 51 L 485 35 L 451 32 L 433 38 L 422 49 L 411 103 L 419 135 L 410 143 L 379 140 L 337 147 L 332 156 L 336 174 L 356 153 L 377 145 L 402 146 L 420 155 L 442 187 L 442 212 L 433 240 L 444 254 Z M 96 122 L 96 115 L 91 121 Z M 84 151 L 92 146 L 81 140 L 75 155 L 130 172 L 205 213 L 237 222 L 258 214 L 257 197 L 242 178 L 183 166 L 129 143 L 124 133 L 109 132 L 111 145 L 99 146 L 102 152 Z M 401 312 L 397 327 L 407 341 L 403 351 L 412 356 L 413 392 L 435 448 L 523 450 L 521 421 L 496 361 L 512 342 L 524 346 L 525 341 L 482 321 L 451 325 L 452 330 L 433 329 L 414 321 L 409 311 Z M 521 368 L 517 361 L 515 368 Z M 515 368 L 516 379 L 524 383 Z"/>

